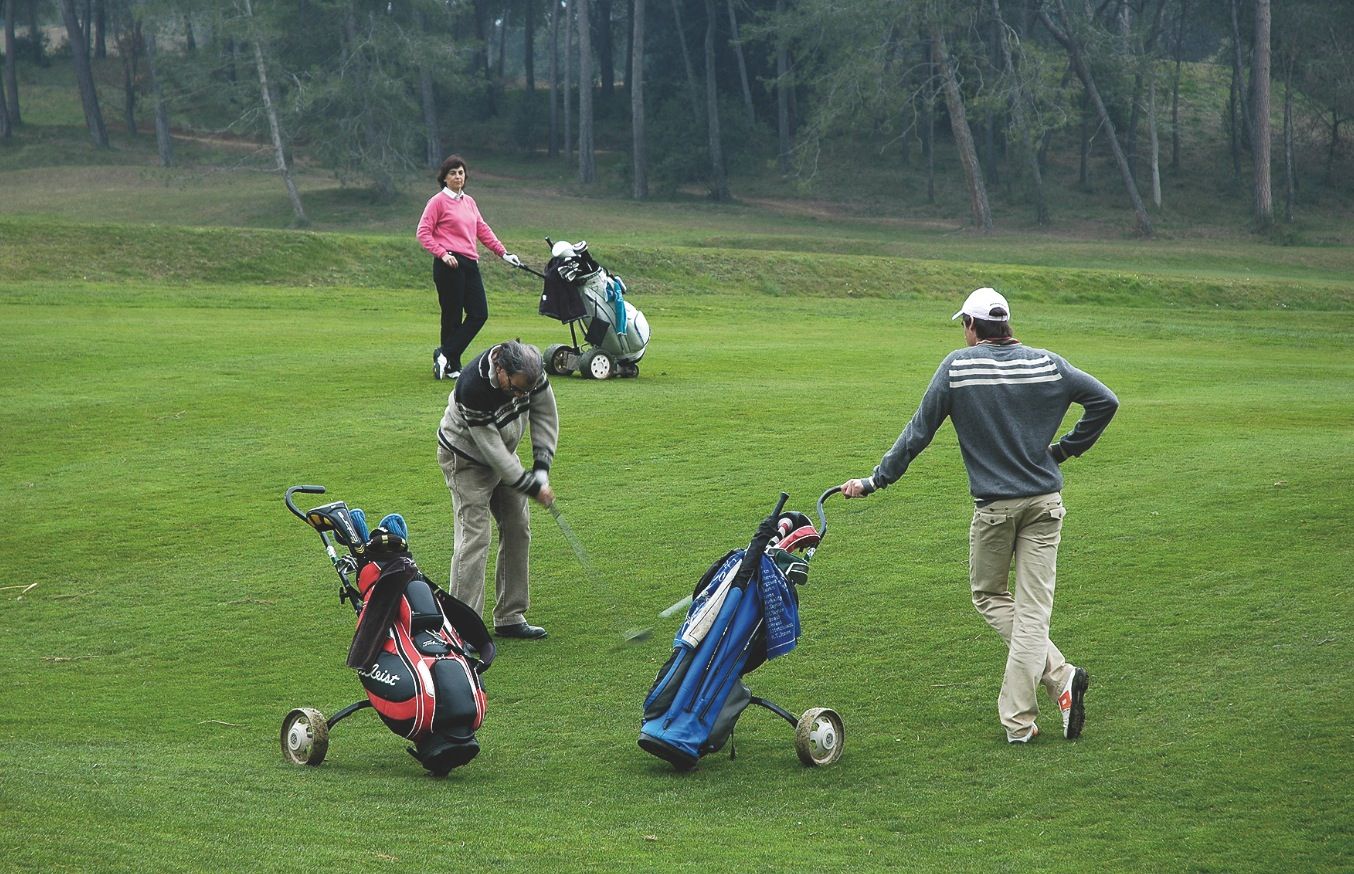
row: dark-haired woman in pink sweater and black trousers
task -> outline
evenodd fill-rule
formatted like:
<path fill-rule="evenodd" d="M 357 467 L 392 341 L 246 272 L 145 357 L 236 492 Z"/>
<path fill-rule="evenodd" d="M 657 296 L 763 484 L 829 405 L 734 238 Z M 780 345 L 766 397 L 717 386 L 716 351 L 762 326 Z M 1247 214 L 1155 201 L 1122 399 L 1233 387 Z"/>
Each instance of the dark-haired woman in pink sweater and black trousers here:
<path fill-rule="evenodd" d="M 437 184 L 441 191 L 424 207 L 417 236 L 433 257 L 432 282 L 441 305 L 441 346 L 432 352 L 432 375 L 455 379 L 460 356 L 489 318 L 475 240 L 513 267 L 521 267 L 521 260 L 504 249 L 475 199 L 466 194 L 466 161 L 459 154 L 441 163 Z"/>

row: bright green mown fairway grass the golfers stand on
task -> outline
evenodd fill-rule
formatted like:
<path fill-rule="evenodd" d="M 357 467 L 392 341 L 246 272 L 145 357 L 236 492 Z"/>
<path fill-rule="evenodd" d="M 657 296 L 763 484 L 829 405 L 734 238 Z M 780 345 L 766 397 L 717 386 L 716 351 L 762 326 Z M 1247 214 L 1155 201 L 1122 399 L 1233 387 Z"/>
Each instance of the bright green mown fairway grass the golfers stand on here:
<path fill-rule="evenodd" d="M 211 264 L 138 280 L 104 263 L 85 282 L 69 260 L 30 271 L 43 259 L 23 252 L 68 244 L 38 236 L 18 255 L 0 241 L 0 869 L 1354 866 L 1354 331 L 1336 271 L 1292 285 L 1300 310 L 1273 290 L 1244 308 L 1189 291 L 1144 306 L 1131 287 L 1013 295 L 1022 340 L 1122 401 L 1066 467 L 1053 637 L 1091 673 L 1079 743 L 1056 711 L 1037 743 L 1005 743 L 1005 649 L 969 606 L 971 503 L 946 425 L 902 482 L 829 504 L 799 649 L 749 678 L 795 711 L 835 707 L 844 759 L 804 768 L 789 726 L 754 709 L 735 760 L 677 775 L 635 745 L 677 627 L 655 614 L 781 489 L 810 511 L 871 470 L 961 343 L 949 316 L 979 271 L 829 298 L 764 285 L 773 262 L 720 249 L 749 278 L 689 291 L 638 237 L 640 378 L 554 381 L 552 480 L 603 580 L 538 508 L 529 618 L 550 638 L 502 646 L 483 752 L 435 781 L 371 713 L 336 728 L 318 768 L 278 749 L 291 707 L 360 696 L 351 611 L 283 489 L 402 512 L 421 566 L 447 573 L 433 430 L 450 386 L 429 374 L 422 262 L 367 287 Z M 1062 267 L 1032 285 L 1076 287 Z M 532 283 L 502 276 L 482 343 L 567 339 Z M 619 642 L 650 623 L 646 644 Z"/>

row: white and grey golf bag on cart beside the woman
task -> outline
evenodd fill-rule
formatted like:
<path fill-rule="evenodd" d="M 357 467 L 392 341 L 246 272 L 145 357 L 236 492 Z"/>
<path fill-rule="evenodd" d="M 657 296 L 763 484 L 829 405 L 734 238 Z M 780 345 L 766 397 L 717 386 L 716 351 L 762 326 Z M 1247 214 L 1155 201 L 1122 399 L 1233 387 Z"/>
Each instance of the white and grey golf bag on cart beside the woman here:
<path fill-rule="evenodd" d="M 649 320 L 626 299 L 620 276 L 597 263 L 585 240 L 561 240 L 550 255 L 540 314 L 567 324 L 573 344 L 548 347 L 546 371 L 565 375 L 577 370 L 590 379 L 638 377 L 639 359 L 649 347 Z"/>

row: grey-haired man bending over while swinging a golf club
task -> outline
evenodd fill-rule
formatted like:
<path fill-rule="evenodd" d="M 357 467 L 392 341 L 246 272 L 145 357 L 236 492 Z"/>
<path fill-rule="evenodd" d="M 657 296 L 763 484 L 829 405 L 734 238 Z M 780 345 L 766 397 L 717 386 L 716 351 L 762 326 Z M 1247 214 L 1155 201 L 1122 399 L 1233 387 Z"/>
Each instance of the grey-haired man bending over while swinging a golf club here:
<path fill-rule="evenodd" d="M 532 469 L 517 459 L 531 424 Z M 437 463 L 451 489 L 455 553 L 451 594 L 475 612 L 485 608 L 485 565 L 490 518 L 498 523 L 494 568 L 494 633 L 536 640 L 546 629 L 527 622 L 531 519 L 527 499 L 550 507 L 550 465 L 559 436 L 555 393 L 540 352 L 508 340 L 460 371 L 437 428 Z"/>

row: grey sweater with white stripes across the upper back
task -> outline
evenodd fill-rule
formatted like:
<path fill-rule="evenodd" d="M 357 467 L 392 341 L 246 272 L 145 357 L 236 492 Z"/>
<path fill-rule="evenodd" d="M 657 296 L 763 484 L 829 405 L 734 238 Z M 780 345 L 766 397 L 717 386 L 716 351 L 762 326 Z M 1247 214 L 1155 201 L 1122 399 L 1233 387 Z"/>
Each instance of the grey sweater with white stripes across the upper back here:
<path fill-rule="evenodd" d="M 1053 443 L 1072 404 L 1085 412 Z M 1118 398 L 1099 379 L 1047 350 L 1020 343 L 956 350 L 940 363 L 911 421 L 865 481 L 865 489 L 886 488 L 903 476 L 948 416 L 959 435 L 975 500 L 1060 492 L 1059 461 L 1089 450 L 1117 409 Z"/>

